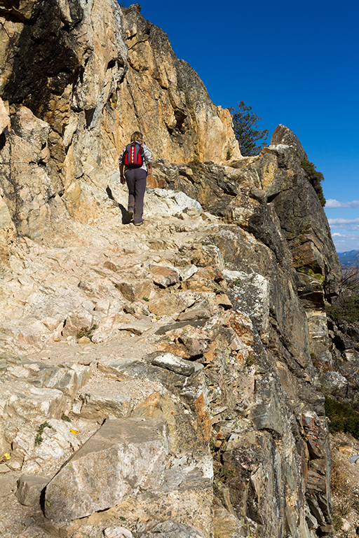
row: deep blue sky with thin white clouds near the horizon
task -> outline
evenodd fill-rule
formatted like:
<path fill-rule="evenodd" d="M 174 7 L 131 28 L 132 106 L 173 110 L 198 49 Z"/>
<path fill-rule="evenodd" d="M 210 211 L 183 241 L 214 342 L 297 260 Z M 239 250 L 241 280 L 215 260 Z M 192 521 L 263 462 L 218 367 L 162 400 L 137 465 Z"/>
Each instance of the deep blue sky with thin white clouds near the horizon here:
<path fill-rule="evenodd" d="M 125 6 L 130 2 L 123 1 Z M 142 0 L 223 107 L 244 101 L 302 142 L 323 172 L 337 251 L 359 250 L 359 2 Z M 356 201 L 355 201 L 356 200 Z"/>

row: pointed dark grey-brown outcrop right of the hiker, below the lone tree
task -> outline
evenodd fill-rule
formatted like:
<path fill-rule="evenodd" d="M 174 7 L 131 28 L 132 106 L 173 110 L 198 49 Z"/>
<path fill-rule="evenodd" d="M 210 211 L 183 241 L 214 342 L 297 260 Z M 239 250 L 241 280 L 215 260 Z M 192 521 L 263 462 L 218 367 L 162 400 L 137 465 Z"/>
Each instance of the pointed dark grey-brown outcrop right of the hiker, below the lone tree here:
<path fill-rule="evenodd" d="M 284 139 L 290 133 L 297 138 L 287 127 L 283 129 Z M 279 263 L 286 261 L 323 282 L 327 300 L 336 296 L 339 258 L 323 207 L 296 149 L 283 143 L 264 148 L 258 158 L 245 159 L 240 169 L 210 162 L 170 165 L 165 160 L 155 167 L 158 184 L 184 191 L 213 214 L 238 223 L 266 244 Z"/>

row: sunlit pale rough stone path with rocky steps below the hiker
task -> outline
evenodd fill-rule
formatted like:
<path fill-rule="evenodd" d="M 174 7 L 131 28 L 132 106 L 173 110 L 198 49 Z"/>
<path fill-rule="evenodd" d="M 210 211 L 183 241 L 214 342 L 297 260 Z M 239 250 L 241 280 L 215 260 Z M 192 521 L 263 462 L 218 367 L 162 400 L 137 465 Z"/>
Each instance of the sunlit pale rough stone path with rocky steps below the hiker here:
<path fill-rule="evenodd" d="M 13 244 L 0 329 L 4 537 L 150 537 L 161 525 L 213 536 L 210 446 L 226 441 L 211 419 L 254 384 L 252 324 L 232 310 L 233 275 L 206 239 L 224 225 L 156 189 L 135 228 L 120 212 L 126 191 L 112 189 L 109 218 L 77 226 L 77 246 Z M 237 438 L 248 427 L 233 423 Z"/>

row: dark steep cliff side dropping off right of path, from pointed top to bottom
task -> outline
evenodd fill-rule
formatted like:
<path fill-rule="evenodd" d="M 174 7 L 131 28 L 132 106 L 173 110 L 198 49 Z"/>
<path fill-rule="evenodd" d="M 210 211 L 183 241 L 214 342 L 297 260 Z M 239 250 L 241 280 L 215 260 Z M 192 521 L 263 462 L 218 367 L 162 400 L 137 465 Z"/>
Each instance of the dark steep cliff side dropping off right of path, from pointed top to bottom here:
<path fill-rule="evenodd" d="M 304 495 L 309 520 L 313 518 L 311 525 L 326 534 L 332 532 L 330 449 L 324 399 L 313 388 L 316 369 L 311 354 L 317 361 L 327 360 L 324 298 L 330 300 L 337 294 L 341 268 L 323 208 L 300 165 L 300 159 L 306 158 L 300 142 L 283 126 L 276 130 L 274 141 L 278 141 L 276 146 L 248 159 L 241 168 L 229 170 L 213 163 L 186 167 L 161 161 L 155 176 L 157 173 L 159 180 L 165 177 L 169 188 L 184 191 L 205 209 L 238 224 L 237 228 L 222 227 L 205 241 L 219 247 L 226 267 L 238 276 L 239 284 L 229 284 L 228 295 L 234 308 L 250 315 L 260 337 L 255 343 L 257 403 L 252 403 L 246 416 L 261 432 L 257 437 L 261 448 L 258 451 L 257 444 L 251 445 L 246 436 L 235 448 L 227 446 L 220 457 L 219 450 L 215 462 L 236 478 L 226 479 L 216 495 L 226 499 L 228 488 L 238 517 L 246 514 L 257 525 L 265 525 L 264 534 L 276 534 L 278 527 L 271 529 L 268 497 L 264 503 L 261 486 L 253 474 L 243 474 L 243 469 L 259 469 L 260 462 L 267 462 L 271 469 L 266 475 L 269 497 L 288 518 L 280 499 L 282 488 L 292 490 L 300 481 L 300 474 L 293 474 L 292 463 L 288 463 L 299 457 L 307 476 Z M 254 242 L 250 237 L 255 237 Z M 236 282 L 237 277 L 232 278 Z M 345 392 L 343 381 L 338 390 Z M 309 413 L 300 420 L 289 411 L 297 399 Z M 281 478 L 275 463 L 278 442 L 288 448 L 294 443 L 293 452 L 282 460 Z M 226 502 L 224 506 L 229 509 Z M 293 535 L 297 532 L 291 531 Z"/>

